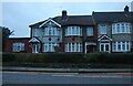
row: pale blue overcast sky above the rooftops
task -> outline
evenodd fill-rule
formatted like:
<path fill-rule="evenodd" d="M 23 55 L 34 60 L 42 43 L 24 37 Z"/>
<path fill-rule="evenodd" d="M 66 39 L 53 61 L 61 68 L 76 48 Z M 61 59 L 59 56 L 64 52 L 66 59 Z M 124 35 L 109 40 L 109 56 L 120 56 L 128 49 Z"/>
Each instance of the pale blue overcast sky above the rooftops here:
<path fill-rule="evenodd" d="M 2 4 L 2 7 L 1 7 Z M 29 37 L 30 24 L 49 18 L 61 15 L 62 10 L 68 11 L 68 15 L 89 15 L 92 11 L 123 11 L 124 7 L 131 8 L 129 2 L 17 2 L 9 1 L 0 3 L 2 8 L 2 26 L 9 28 L 13 32 L 11 37 Z"/>

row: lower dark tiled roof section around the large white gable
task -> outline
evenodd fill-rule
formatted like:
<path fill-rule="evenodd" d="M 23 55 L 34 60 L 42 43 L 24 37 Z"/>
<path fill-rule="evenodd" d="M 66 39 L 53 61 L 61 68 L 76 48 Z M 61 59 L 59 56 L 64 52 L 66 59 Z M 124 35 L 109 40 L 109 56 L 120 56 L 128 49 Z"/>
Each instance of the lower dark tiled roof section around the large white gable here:
<path fill-rule="evenodd" d="M 62 21 L 62 17 L 55 17 L 52 18 L 52 20 L 61 25 L 94 25 L 92 15 L 68 15 L 68 19 L 64 21 Z M 31 24 L 30 26 L 40 25 L 45 21 L 47 20 Z"/>

